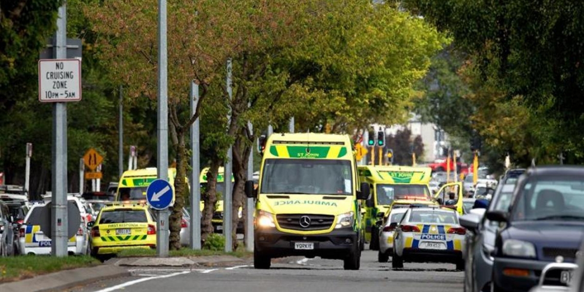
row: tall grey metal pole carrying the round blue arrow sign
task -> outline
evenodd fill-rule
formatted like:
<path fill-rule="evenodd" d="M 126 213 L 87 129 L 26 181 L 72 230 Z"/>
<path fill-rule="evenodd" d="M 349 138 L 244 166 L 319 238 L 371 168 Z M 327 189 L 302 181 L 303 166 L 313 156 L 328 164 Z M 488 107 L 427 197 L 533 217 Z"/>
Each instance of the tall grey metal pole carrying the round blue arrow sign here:
<path fill-rule="evenodd" d="M 168 181 L 168 55 L 166 47 L 166 0 L 158 0 L 158 147 L 157 176 Z M 157 211 L 156 253 L 168 256 L 168 208 Z"/>

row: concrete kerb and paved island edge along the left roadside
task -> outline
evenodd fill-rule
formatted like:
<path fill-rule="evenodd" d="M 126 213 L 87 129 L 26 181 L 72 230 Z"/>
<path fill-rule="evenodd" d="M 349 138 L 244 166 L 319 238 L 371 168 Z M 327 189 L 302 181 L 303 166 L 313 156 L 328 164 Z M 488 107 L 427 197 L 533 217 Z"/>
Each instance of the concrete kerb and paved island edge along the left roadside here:
<path fill-rule="evenodd" d="M 0 284 L 2 292 L 48 292 L 91 284 L 114 277 L 130 276 L 127 267 L 193 267 L 241 265 L 235 256 L 197 256 L 192 258 L 113 258 L 96 267 L 62 270 L 31 279 Z"/>

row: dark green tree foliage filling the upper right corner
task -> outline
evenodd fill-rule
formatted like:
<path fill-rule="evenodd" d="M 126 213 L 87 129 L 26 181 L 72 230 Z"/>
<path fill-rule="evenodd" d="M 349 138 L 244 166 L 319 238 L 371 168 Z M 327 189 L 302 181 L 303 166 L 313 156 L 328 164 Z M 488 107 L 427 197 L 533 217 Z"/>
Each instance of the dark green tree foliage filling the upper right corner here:
<path fill-rule="evenodd" d="M 468 75 L 480 87 L 481 103 L 496 111 L 475 121 L 495 147 L 515 148 L 513 133 L 529 129 L 519 136 L 529 144 L 515 150 L 521 164 L 557 161 L 561 151 L 572 163 L 583 161 L 584 6 L 568 0 L 408 0 L 404 6 L 451 33 L 469 54 L 474 72 Z M 529 126 L 514 114 L 524 114 Z M 502 121 L 509 122 L 503 128 L 508 133 L 493 133 Z"/>

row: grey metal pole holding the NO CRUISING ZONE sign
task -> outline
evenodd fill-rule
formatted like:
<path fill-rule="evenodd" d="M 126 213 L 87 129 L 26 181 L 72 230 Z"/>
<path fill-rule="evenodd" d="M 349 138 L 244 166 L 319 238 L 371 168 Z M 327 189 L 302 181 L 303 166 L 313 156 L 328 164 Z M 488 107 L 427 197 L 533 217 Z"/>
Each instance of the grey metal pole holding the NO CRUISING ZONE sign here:
<path fill-rule="evenodd" d="M 67 2 L 59 7 L 55 36 L 56 59 L 67 59 Z M 67 256 L 67 103 L 53 104 L 53 168 L 51 254 Z"/>

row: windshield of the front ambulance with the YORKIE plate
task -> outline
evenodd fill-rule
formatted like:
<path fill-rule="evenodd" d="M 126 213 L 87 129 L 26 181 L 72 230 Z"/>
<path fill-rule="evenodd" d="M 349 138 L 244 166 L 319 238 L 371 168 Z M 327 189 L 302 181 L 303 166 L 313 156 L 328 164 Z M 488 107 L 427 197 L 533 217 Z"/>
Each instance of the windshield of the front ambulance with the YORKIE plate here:
<path fill-rule="evenodd" d="M 260 193 L 352 194 L 348 160 L 266 159 Z"/>

